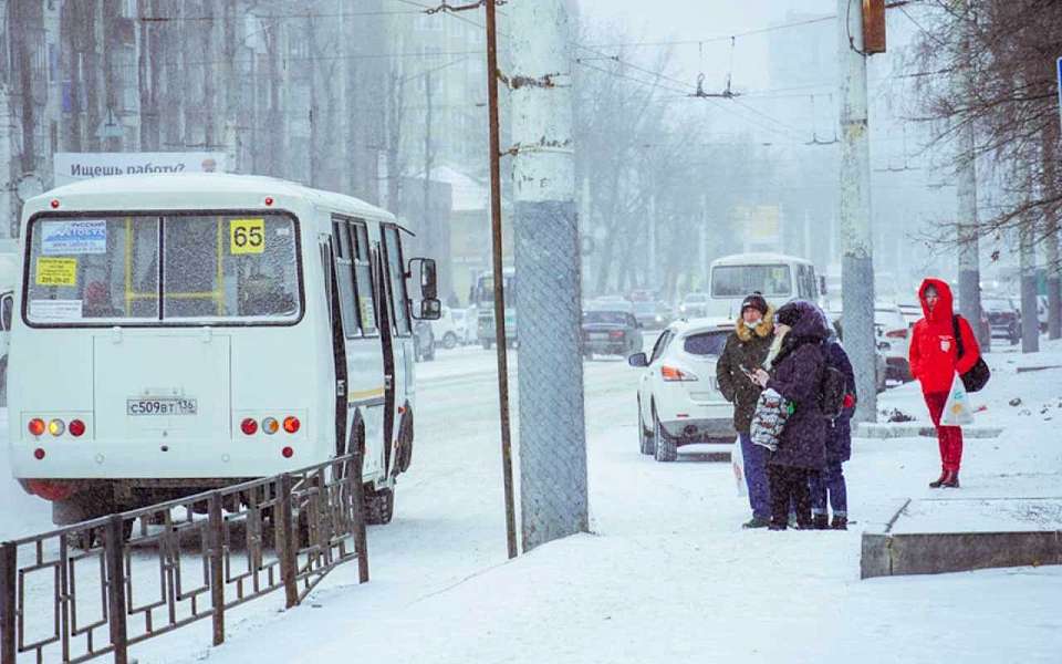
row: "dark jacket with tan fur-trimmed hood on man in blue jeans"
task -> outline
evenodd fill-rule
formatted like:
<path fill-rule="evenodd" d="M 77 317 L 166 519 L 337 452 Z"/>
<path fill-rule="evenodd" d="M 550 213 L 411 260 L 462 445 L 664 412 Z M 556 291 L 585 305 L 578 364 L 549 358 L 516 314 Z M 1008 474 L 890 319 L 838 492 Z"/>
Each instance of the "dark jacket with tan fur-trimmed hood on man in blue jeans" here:
<path fill-rule="evenodd" d="M 756 401 L 760 398 L 760 386 L 749 380 L 741 371 L 745 366 L 756 371 L 767 360 L 767 352 L 774 340 L 774 310 L 768 308 L 763 322 L 756 330 L 738 317 L 733 333 L 727 338 L 727 345 L 716 363 L 716 381 L 722 397 L 733 404 L 733 428 L 739 434 L 749 433 Z"/>

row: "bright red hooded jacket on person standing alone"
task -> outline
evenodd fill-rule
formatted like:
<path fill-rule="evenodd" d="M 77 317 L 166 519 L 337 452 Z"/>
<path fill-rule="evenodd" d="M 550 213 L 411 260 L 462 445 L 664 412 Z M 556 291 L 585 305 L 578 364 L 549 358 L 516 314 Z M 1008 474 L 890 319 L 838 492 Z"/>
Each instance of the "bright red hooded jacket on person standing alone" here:
<path fill-rule="evenodd" d="M 926 288 L 937 289 L 937 305 L 933 311 L 926 304 Z M 926 279 L 918 289 L 918 300 L 922 302 L 922 312 L 925 314 L 915 323 L 910 339 L 910 373 L 922 382 L 922 391 L 926 394 L 948 392 L 955 374 L 965 374 L 970 371 L 981 350 L 977 345 L 977 338 L 966 319 L 959 319 L 959 334 L 962 335 L 962 359 L 959 360 L 958 344 L 955 342 L 955 326 L 951 308 L 951 289 L 939 279 Z"/>

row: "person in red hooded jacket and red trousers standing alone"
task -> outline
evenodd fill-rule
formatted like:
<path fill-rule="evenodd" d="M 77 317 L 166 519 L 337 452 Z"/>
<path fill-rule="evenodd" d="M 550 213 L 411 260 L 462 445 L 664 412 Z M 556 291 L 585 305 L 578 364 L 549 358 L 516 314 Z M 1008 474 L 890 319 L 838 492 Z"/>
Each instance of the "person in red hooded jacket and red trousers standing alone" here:
<path fill-rule="evenodd" d="M 915 323 L 910 340 L 910 373 L 922 383 L 922 393 L 929 408 L 929 416 L 937 427 L 940 444 L 940 477 L 930 483 L 934 489 L 959 487 L 959 465 L 962 461 L 962 429 L 957 426 L 940 426 L 940 414 L 951 391 L 956 373 L 968 372 L 980 357 L 977 339 L 966 319 L 951 309 L 951 289 L 939 279 L 926 279 L 918 289 L 925 318 Z M 962 335 L 962 357 L 959 357 L 955 340 L 958 322 Z"/>

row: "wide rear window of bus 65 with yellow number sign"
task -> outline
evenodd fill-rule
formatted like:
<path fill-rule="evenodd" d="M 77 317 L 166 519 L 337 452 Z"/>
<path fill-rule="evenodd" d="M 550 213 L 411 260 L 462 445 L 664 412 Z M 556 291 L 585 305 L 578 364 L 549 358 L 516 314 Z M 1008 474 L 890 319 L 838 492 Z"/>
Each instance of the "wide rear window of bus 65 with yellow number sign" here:
<path fill-rule="evenodd" d="M 30 325 L 290 324 L 302 313 L 287 215 L 49 216 L 28 240 Z"/>

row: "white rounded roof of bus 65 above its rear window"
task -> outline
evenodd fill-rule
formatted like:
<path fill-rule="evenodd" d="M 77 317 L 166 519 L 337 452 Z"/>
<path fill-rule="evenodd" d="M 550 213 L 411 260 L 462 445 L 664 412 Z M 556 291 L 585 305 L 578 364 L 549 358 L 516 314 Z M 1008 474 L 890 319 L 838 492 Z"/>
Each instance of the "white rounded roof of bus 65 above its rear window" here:
<path fill-rule="evenodd" d="M 136 199 L 142 196 L 157 198 L 150 205 L 138 205 Z M 278 209 L 283 209 L 284 197 L 302 198 L 316 207 L 396 222 L 395 216 L 387 210 L 353 196 L 312 189 L 273 177 L 226 173 L 119 175 L 79 180 L 31 198 L 25 204 L 25 215 L 46 210 L 50 200 L 63 198 L 74 199 L 74 209 L 187 209 L 189 196 L 195 197 L 196 207 L 219 208 L 259 208 L 264 198 L 271 196 L 277 200 Z"/>

